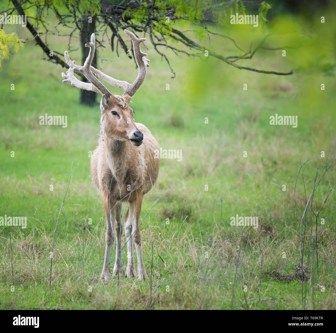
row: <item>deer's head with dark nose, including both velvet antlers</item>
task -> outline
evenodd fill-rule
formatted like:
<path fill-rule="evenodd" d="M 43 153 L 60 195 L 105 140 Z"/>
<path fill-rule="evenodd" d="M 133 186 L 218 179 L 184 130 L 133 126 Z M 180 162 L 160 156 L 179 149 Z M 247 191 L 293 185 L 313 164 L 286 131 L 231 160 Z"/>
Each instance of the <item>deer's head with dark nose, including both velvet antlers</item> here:
<path fill-rule="evenodd" d="M 67 51 L 64 52 L 64 57 L 69 65 L 67 74 L 62 73 L 63 82 L 69 82 L 72 86 L 80 89 L 91 90 L 102 95 L 100 101 L 101 119 L 100 123 L 104 133 L 108 137 L 120 141 L 130 140 L 134 145 L 139 146 L 143 140 L 143 134 L 135 125 L 133 119 L 133 110 L 129 106 L 129 102 L 135 92 L 139 89 L 146 76 L 146 68 L 149 67 L 149 59 L 146 59 L 146 53 L 141 52 L 140 43 L 145 41 L 145 38 L 137 38 L 133 33 L 124 30 L 131 38 L 136 64 L 138 65 L 138 76 L 131 84 L 126 81 L 116 80 L 96 68 L 91 66 L 95 52 L 95 35 L 91 35 L 90 43 L 86 43 L 86 47 L 90 47 L 89 55 L 87 56 L 83 66 L 76 65 L 76 61 L 71 61 Z M 78 80 L 74 72 L 82 73 L 90 83 Z M 124 89 L 122 96 L 113 95 L 97 77 L 110 83 L 111 85 Z"/>

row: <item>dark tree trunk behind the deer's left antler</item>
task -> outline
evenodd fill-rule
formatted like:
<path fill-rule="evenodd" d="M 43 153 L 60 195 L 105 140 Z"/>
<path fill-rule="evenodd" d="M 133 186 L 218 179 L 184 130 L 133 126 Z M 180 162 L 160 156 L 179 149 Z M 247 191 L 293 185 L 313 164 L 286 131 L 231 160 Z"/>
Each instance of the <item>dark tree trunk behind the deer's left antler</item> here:
<path fill-rule="evenodd" d="M 90 41 L 91 34 L 95 32 L 96 22 L 95 17 L 83 14 L 82 26 L 80 31 L 80 41 L 82 48 L 82 64 L 84 64 L 87 56 L 89 55 L 90 48 L 85 47 L 85 43 Z M 97 52 L 94 52 L 92 60 L 92 66 L 97 67 Z M 89 82 L 86 78 L 82 78 L 82 81 Z M 80 103 L 93 106 L 96 102 L 96 93 L 94 91 L 81 90 Z"/>

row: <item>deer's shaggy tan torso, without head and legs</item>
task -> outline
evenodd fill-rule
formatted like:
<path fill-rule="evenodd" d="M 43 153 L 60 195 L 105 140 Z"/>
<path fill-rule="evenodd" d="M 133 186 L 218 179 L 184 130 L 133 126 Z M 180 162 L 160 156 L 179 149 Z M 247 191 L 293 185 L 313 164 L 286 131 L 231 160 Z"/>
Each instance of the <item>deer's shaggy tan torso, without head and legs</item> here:
<path fill-rule="evenodd" d="M 142 195 L 146 194 L 158 177 L 159 159 L 154 158 L 154 152 L 159 150 L 159 145 L 146 126 L 135 125 L 144 134 L 141 146 L 101 136 L 91 157 L 91 178 L 95 188 L 100 194 L 110 191 L 110 197 L 115 200 L 130 201 L 135 196 L 135 193 L 130 194 L 129 185 L 141 189 Z M 113 186 L 110 190 L 111 177 Z"/>

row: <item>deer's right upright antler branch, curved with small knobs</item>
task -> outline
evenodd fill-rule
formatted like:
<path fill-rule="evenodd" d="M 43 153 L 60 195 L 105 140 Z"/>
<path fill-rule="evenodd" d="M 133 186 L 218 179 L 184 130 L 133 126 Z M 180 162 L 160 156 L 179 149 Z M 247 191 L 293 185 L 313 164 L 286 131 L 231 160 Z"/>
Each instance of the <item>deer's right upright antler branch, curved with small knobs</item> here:
<path fill-rule="evenodd" d="M 149 67 L 149 59 L 147 59 L 145 56 L 147 55 L 147 53 L 143 53 L 140 50 L 140 43 L 144 42 L 146 40 L 146 38 L 136 38 L 136 36 L 131 33 L 130 31 L 128 31 L 127 29 L 124 30 L 124 32 L 131 37 L 132 43 L 133 43 L 133 51 L 134 51 L 134 57 L 135 57 L 135 61 L 136 64 L 138 65 L 139 68 L 139 72 L 138 72 L 138 76 L 135 79 L 135 81 L 129 85 L 129 87 L 127 87 L 125 89 L 125 94 L 128 94 L 130 96 L 133 96 L 135 94 L 135 92 L 140 88 L 141 84 L 143 83 L 145 76 L 146 76 L 146 72 L 147 72 L 147 67 Z"/>

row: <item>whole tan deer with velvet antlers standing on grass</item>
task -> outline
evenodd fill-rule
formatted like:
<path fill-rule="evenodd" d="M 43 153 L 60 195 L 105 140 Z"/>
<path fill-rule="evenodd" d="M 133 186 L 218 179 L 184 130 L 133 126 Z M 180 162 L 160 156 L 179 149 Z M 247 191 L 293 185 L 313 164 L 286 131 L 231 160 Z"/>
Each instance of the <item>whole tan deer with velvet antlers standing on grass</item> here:
<path fill-rule="evenodd" d="M 111 276 L 123 275 L 121 262 L 121 236 L 123 232 L 122 204 L 129 204 L 124 217 L 127 247 L 127 266 L 125 277 L 144 280 L 148 276 L 143 263 L 139 218 L 143 196 L 155 184 L 159 174 L 160 160 L 156 152 L 159 144 L 143 124 L 133 119 L 133 109 L 129 106 L 132 96 L 143 83 L 149 59 L 141 52 L 140 43 L 145 38 L 137 38 L 132 32 L 124 30 L 131 38 L 138 75 L 130 84 L 116 80 L 91 66 L 95 52 L 95 34 L 91 35 L 89 54 L 83 66 L 71 61 L 67 51 L 64 57 L 69 66 L 66 74 L 62 73 L 62 82 L 68 82 L 80 89 L 95 91 L 102 95 L 100 100 L 100 135 L 98 145 L 91 156 L 90 174 L 97 192 L 102 196 L 106 217 L 105 254 L 100 280 L 109 281 Z M 81 73 L 88 82 L 77 79 L 74 72 Z M 122 88 L 124 94 L 113 95 L 98 78 L 114 87 Z M 125 207 L 126 207 L 125 206 Z M 116 259 L 110 272 L 111 248 L 116 239 Z M 137 274 L 133 259 L 133 242 L 137 258 Z"/>

